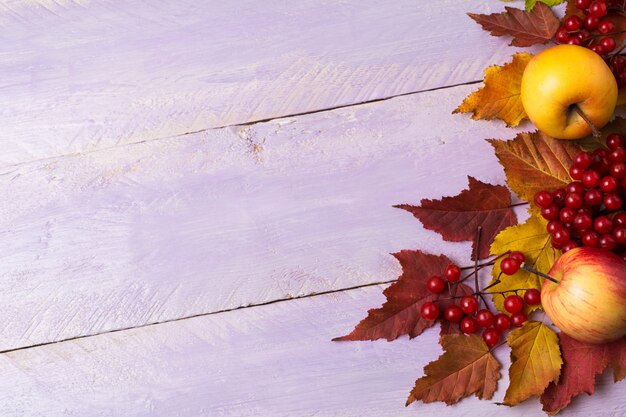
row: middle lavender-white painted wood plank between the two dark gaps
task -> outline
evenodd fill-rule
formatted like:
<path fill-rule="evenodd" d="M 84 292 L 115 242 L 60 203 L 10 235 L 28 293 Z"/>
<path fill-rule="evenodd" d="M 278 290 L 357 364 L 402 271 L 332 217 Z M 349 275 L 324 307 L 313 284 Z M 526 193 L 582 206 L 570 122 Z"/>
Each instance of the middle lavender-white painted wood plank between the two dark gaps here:
<path fill-rule="evenodd" d="M 450 114 L 474 88 L 0 170 L 0 350 L 464 262 L 392 205 L 504 181 L 514 131 Z"/>

